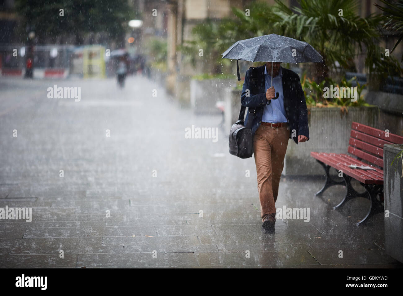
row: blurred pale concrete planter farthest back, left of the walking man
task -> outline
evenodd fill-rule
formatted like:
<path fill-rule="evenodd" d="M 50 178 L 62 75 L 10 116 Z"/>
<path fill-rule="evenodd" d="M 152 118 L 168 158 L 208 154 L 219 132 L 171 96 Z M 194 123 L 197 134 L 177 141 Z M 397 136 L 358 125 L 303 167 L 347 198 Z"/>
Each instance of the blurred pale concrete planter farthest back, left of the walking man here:
<path fill-rule="evenodd" d="M 233 79 L 206 79 L 190 81 L 190 106 L 195 114 L 220 114 L 217 101 L 224 101 L 228 88 L 235 85 Z"/>

